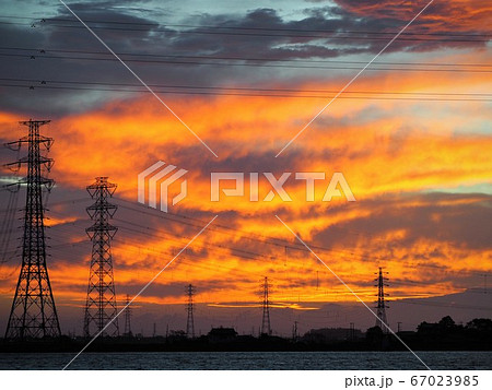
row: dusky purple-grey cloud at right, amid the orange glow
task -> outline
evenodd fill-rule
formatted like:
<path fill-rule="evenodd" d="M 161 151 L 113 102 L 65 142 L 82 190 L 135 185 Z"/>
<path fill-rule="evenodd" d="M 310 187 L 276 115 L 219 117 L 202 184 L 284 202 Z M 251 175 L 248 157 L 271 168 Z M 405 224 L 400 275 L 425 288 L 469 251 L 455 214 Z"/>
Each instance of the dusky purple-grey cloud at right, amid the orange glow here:
<path fill-rule="evenodd" d="M 442 244 L 465 250 L 492 248 L 492 197 L 488 194 L 414 193 L 385 196 L 360 201 L 359 205 L 372 210 L 361 216 L 319 232 L 315 243 L 328 247 L 344 245 L 356 247 L 371 243 L 388 252 L 393 248 L 417 248 L 419 241 L 432 238 L 435 248 L 422 253 L 411 252 L 414 259 L 443 258 Z M 385 234 L 405 231 L 399 239 L 382 240 Z M 373 239 L 374 237 L 374 239 Z M 456 260 L 456 259 L 449 259 Z"/>

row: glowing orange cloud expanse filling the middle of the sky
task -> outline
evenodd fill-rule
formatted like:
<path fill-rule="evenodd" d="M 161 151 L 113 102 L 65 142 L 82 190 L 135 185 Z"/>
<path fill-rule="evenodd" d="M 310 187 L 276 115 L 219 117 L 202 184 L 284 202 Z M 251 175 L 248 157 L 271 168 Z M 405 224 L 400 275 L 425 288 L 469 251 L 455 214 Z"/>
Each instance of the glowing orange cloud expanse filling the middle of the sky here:
<path fill-rule="evenodd" d="M 300 95 L 313 88 L 337 90 L 343 85 L 341 81 L 335 84 L 306 83 L 301 85 Z M 490 88 L 490 81 L 475 73 L 460 75 L 459 80 L 437 73 L 431 81 L 419 73 L 391 76 L 375 73 L 358 81 L 360 91 L 380 92 L 386 87 L 398 93 L 465 93 Z M 272 299 L 283 307 L 301 309 L 296 306 L 300 302 L 354 300 L 274 218 L 277 213 L 285 216 L 294 232 L 313 244 L 315 252 L 364 299 L 374 295 L 373 273 L 380 264 L 390 265 L 397 283 L 407 283 L 394 285 L 395 298 L 461 291 L 466 283 L 460 274 L 469 276 L 492 267 L 490 247 L 471 248 L 440 237 L 458 224 L 454 220 L 454 225 L 447 226 L 448 214 L 465 206 L 483 206 L 480 210 L 485 212 L 490 204 L 487 196 L 443 198 L 436 204 L 441 209 L 432 210 L 431 201 L 420 197 L 429 189 L 491 184 L 492 139 L 482 128 L 492 119 L 488 103 L 340 99 L 276 159 L 274 154 L 324 103 L 301 97 L 175 98 L 173 107 L 178 107 L 178 115 L 218 151 L 219 159 L 149 96 L 113 102 L 94 111 L 65 117 L 50 125 L 56 140 L 50 156 L 56 161 L 54 176 L 60 186 L 54 191 L 83 188 L 94 176 L 103 175 L 118 184 L 118 197 L 134 201 L 137 174 L 155 161 L 189 170 L 189 196 L 176 210 L 198 215 L 198 222 L 172 223 L 152 211 L 130 221 L 131 211 L 124 208 L 116 214 L 114 223 L 120 229 L 113 252 L 120 299 L 127 291 L 137 292 L 151 280 L 198 233 L 207 220 L 203 215 L 210 212 L 221 214 L 216 225 L 223 226 L 214 224 L 197 239 L 155 281 L 142 302 L 180 303 L 179 286 L 190 281 L 201 286 L 207 303 L 257 302 L 258 281 L 265 275 L 274 284 Z M 12 138 L 12 123 L 19 119 L 1 113 L 2 138 Z M 208 174 L 215 169 L 246 173 L 257 169 L 274 172 L 277 176 L 281 172 L 326 172 L 327 179 L 317 184 L 315 203 L 304 200 L 305 185 L 294 179 L 285 186 L 295 200 L 291 203 L 281 202 L 278 197 L 272 202 L 251 203 L 248 186 L 245 197 L 212 203 Z M 358 202 L 348 203 L 343 199 L 329 204 L 319 202 L 333 172 L 344 174 Z M 260 199 L 269 190 L 262 178 Z M 393 201 L 385 203 L 386 199 Z M 413 238 L 420 226 L 409 226 L 409 221 L 413 212 L 427 209 L 432 212 L 426 223 L 443 225 L 434 236 Z M 57 208 L 55 212 L 48 222 L 54 227 L 62 229 L 77 221 L 73 206 Z M 351 224 L 356 226 L 390 214 L 393 218 L 408 221 L 374 228 L 375 232 L 367 225 L 363 232 L 351 231 Z M 328 239 L 320 235 L 333 234 L 337 228 L 341 232 L 340 239 L 326 244 Z M 61 299 L 81 305 L 90 251 L 87 246 L 74 247 L 79 245 L 79 239 L 72 237 L 75 234 L 80 239 L 83 227 L 73 224 L 67 236 L 54 234 L 59 240 L 57 245 L 71 246 L 54 245 L 50 276 Z M 425 253 L 433 257 L 422 259 Z M 4 265 L 3 271 L 12 274 L 15 267 Z M 15 282 L 14 276 L 9 277 L 0 283 L 4 295 L 10 294 Z"/>

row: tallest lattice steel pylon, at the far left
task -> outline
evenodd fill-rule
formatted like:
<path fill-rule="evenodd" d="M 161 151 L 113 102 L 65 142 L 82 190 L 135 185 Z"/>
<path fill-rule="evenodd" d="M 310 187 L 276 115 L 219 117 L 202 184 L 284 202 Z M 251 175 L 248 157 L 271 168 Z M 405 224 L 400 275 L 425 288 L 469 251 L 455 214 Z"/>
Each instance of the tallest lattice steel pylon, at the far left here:
<path fill-rule="evenodd" d="M 28 134 L 5 145 L 11 150 L 28 147 L 27 156 L 7 166 L 20 168 L 27 165 L 27 176 L 20 181 L 26 187 L 24 209 L 24 235 L 22 238 L 22 265 L 12 302 L 5 339 L 27 340 L 60 336 L 60 323 L 52 297 L 46 264 L 43 191 L 50 190 L 54 180 L 43 177 L 49 172 L 52 159 L 42 155 L 49 151 L 52 139 L 39 134 L 39 127 L 49 120 L 28 120 L 20 123 L 28 127 Z"/>

